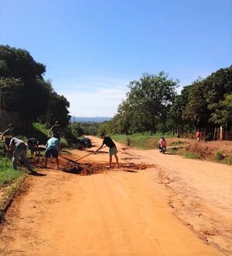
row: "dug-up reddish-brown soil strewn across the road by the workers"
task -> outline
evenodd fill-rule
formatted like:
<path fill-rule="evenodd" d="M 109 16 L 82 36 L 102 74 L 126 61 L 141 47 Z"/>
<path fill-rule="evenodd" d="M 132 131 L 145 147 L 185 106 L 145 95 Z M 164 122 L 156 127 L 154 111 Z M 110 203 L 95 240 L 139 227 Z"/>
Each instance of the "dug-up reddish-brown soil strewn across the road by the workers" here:
<path fill-rule="evenodd" d="M 66 157 L 67 158 L 67 157 Z M 32 168 L 44 168 L 44 157 L 30 157 L 29 162 Z M 94 175 L 104 171 L 108 171 L 107 163 L 75 163 L 70 159 L 67 161 L 60 158 L 60 169 L 65 172 L 77 174 L 77 175 Z M 133 171 L 133 170 L 145 170 L 146 168 L 155 167 L 153 164 L 135 164 L 135 163 L 122 163 L 118 170 Z M 56 168 L 56 163 L 53 159 L 49 158 L 48 168 Z M 116 170 L 116 169 L 114 169 Z"/>

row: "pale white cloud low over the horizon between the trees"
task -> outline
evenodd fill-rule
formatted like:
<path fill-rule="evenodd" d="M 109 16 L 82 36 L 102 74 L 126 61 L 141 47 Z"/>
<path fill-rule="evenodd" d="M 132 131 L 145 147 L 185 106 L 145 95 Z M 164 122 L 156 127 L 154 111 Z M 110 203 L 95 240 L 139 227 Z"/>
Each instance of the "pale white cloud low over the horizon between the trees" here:
<path fill-rule="evenodd" d="M 72 116 L 114 116 L 128 92 L 126 85 L 128 81 L 96 78 L 58 93 L 70 102 Z"/>

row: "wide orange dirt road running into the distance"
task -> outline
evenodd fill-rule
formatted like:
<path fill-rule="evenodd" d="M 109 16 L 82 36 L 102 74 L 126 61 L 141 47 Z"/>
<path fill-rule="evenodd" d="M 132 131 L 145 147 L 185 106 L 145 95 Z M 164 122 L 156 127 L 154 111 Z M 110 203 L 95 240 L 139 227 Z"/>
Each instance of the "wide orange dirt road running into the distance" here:
<path fill-rule="evenodd" d="M 232 254 L 231 166 L 118 149 L 121 161 L 155 168 L 90 176 L 38 170 L 46 176 L 28 178 L 2 223 L 0 255 Z M 104 152 L 83 162 L 107 161 Z"/>

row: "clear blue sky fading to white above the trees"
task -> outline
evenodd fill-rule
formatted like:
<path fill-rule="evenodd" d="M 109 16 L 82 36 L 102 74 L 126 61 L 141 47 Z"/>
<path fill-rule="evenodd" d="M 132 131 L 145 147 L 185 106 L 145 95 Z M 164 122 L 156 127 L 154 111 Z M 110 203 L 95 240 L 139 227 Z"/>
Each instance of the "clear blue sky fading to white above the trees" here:
<path fill-rule="evenodd" d="M 232 64 L 232 0 L 1 0 L 0 43 L 43 64 L 75 116 L 113 116 L 128 82 Z"/>

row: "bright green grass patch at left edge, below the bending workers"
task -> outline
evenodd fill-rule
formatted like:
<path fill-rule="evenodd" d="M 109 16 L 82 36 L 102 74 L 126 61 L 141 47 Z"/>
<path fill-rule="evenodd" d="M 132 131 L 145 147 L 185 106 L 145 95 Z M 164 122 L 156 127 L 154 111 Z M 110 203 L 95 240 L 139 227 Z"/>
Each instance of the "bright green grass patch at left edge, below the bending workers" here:
<path fill-rule="evenodd" d="M 9 161 L 7 158 L 0 159 L 0 189 L 25 176 L 26 172 L 22 171 L 22 169 L 19 168 L 19 170 L 15 171 L 12 168 L 12 161 Z"/>

